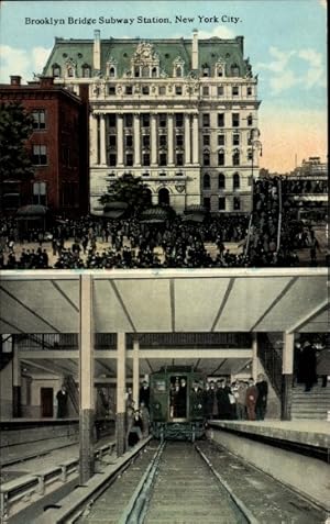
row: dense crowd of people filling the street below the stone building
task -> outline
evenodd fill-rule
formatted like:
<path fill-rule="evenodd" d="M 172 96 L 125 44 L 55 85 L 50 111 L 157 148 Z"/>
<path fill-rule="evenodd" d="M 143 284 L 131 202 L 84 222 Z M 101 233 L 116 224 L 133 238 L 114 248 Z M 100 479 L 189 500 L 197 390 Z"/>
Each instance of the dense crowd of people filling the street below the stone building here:
<path fill-rule="evenodd" d="M 250 230 L 243 213 L 206 215 L 201 223 L 185 215 L 163 223 L 59 219 L 46 234 L 21 232 L 13 219 L 2 219 L 0 269 L 290 267 L 299 265 L 297 250 L 304 248 L 316 265 L 320 246 L 315 231 L 293 219 L 292 193 L 308 192 L 310 185 L 312 190 L 323 188 L 321 182 L 279 177 L 256 180 Z M 226 243 L 239 248 L 228 249 Z"/>

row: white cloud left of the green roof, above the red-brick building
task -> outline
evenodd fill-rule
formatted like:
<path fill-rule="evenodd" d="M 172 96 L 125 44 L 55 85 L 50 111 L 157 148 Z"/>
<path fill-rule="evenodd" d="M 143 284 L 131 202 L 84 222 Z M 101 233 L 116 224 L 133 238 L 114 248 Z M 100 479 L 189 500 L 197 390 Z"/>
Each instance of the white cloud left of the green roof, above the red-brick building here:
<path fill-rule="evenodd" d="M 51 49 L 33 47 L 29 53 L 25 49 L 0 45 L 0 81 L 9 83 L 11 75 L 20 75 L 22 81 L 33 79 L 34 73 L 42 73 Z"/>

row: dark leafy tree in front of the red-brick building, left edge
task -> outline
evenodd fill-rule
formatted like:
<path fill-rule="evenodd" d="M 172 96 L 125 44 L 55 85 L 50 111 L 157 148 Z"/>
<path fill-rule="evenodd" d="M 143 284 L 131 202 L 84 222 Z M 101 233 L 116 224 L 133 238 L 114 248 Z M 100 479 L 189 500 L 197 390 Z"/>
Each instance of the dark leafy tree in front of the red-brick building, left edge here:
<path fill-rule="evenodd" d="M 33 177 L 25 141 L 33 132 L 33 118 L 18 103 L 0 107 L 0 207 L 7 181 L 24 182 Z M 3 209 L 3 208 L 2 208 Z"/>

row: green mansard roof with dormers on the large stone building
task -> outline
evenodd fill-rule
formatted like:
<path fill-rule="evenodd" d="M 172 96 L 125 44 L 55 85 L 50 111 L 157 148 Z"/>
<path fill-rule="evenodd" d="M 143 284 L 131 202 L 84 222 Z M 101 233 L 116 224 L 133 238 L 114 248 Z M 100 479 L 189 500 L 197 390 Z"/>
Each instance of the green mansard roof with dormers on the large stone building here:
<path fill-rule="evenodd" d="M 131 59 L 136 47 L 142 42 L 153 46 L 153 52 L 158 55 L 160 69 L 165 75 L 173 76 L 173 66 L 176 58 L 182 58 L 185 63 L 185 74 L 191 70 L 191 38 L 173 40 L 147 40 L 142 38 L 109 38 L 101 40 L 101 73 L 106 73 L 108 60 L 117 62 L 117 76 L 122 77 L 131 69 Z M 44 68 L 44 75 L 52 75 L 52 66 L 55 64 L 65 67 L 67 60 L 74 60 L 77 65 L 77 77 L 81 76 L 82 65 L 90 65 L 92 69 L 92 40 L 66 40 L 55 38 L 55 44 Z M 207 65 L 211 70 L 218 62 L 226 63 L 226 75 L 233 76 L 232 66 L 240 69 L 240 76 L 249 74 L 249 60 L 243 56 L 243 36 L 233 40 L 222 40 L 212 37 L 198 40 L 198 63 L 199 71 Z M 237 75 L 234 75 L 237 76 Z"/>

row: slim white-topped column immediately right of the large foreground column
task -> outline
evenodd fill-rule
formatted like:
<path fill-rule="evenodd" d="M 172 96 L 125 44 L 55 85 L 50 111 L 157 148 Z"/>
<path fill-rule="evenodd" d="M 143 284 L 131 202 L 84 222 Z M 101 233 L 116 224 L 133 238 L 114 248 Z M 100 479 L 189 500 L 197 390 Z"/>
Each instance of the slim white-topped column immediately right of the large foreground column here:
<path fill-rule="evenodd" d="M 127 336 L 117 333 L 117 455 L 125 453 L 125 383 L 127 383 Z"/>

